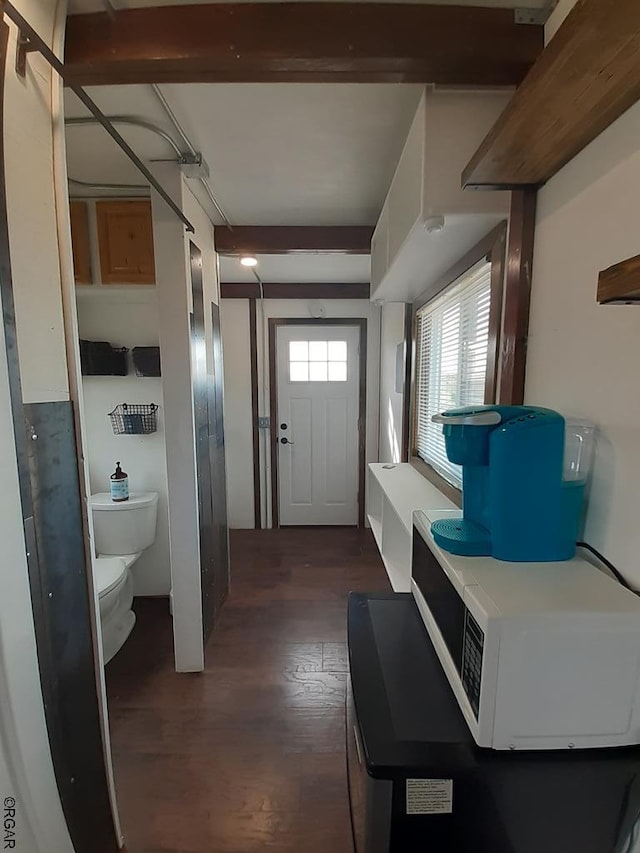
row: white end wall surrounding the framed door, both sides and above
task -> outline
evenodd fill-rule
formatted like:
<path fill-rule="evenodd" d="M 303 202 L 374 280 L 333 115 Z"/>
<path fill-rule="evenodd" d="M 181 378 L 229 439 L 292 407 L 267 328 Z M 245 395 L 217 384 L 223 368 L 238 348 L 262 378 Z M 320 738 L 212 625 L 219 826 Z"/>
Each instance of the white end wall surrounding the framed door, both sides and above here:
<path fill-rule="evenodd" d="M 225 341 L 238 337 L 246 341 L 248 347 L 248 308 L 244 311 L 239 308 L 227 308 L 227 301 L 237 302 L 240 300 L 223 301 L 223 344 Z M 365 317 L 367 325 L 367 433 L 366 433 L 366 461 L 375 462 L 378 459 L 378 413 L 380 405 L 379 395 L 379 368 L 380 368 L 380 309 L 372 302 L 364 299 L 327 299 L 322 304 L 326 308 L 326 319 L 332 317 Z M 265 299 L 263 305 L 258 303 L 258 410 L 260 415 L 269 415 L 269 379 L 268 370 L 265 371 L 267 358 L 265 347 L 268 338 L 268 323 L 270 317 L 310 317 L 309 303 L 302 299 Z M 264 308 L 264 320 L 261 311 Z M 228 345 L 228 344 L 227 344 Z M 229 350 L 225 353 L 225 360 L 231 358 Z M 238 368 L 225 368 L 225 379 L 229 381 L 237 376 L 243 376 L 245 391 L 238 390 L 234 395 L 233 406 L 225 417 L 225 440 L 227 445 L 231 442 L 234 450 L 230 453 L 227 466 L 227 480 L 229 493 L 235 495 L 234 515 L 232 526 L 240 520 L 243 526 L 248 526 L 248 510 L 242 513 L 238 509 L 241 503 L 253 504 L 253 465 L 251 459 L 251 387 L 248 381 L 249 370 L 248 354 L 244 370 Z M 249 431 L 247 431 L 249 425 Z M 245 454 L 247 459 L 241 459 L 241 445 L 237 431 L 245 433 Z M 249 436 L 249 438 L 247 438 Z M 271 458 L 269 453 L 269 437 L 267 430 L 260 431 L 260 479 L 262 498 L 262 518 L 264 526 L 271 526 Z M 240 464 L 239 463 L 240 460 Z"/>

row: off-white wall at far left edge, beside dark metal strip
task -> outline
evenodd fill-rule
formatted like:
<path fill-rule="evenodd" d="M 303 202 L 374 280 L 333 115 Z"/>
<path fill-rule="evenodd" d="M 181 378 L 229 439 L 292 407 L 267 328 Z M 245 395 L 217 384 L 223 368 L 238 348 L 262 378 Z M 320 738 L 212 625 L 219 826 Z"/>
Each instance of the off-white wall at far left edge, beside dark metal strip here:
<path fill-rule="evenodd" d="M 53 43 L 56 5 L 17 0 L 18 10 Z M 64 9 L 62 9 L 64 12 Z M 5 83 L 5 176 L 24 399 L 67 400 L 68 379 L 52 170 L 52 79 L 31 55 L 26 80 L 14 71 L 11 26 Z M 37 249 L 37 250 L 36 250 Z M 60 805 L 40 691 L 26 548 L 0 329 L 0 784 L 18 801 L 18 847 L 72 853 Z"/>

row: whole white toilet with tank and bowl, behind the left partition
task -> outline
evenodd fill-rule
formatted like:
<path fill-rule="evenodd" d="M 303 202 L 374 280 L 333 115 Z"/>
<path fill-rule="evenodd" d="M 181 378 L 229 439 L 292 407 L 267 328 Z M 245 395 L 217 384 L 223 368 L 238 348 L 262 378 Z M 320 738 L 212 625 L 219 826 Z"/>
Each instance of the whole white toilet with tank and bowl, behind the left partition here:
<path fill-rule="evenodd" d="M 156 536 L 157 492 L 132 492 L 115 503 L 108 492 L 91 496 L 97 557 L 95 581 L 100 601 L 104 662 L 122 647 L 136 622 L 131 609 L 131 566 Z"/>

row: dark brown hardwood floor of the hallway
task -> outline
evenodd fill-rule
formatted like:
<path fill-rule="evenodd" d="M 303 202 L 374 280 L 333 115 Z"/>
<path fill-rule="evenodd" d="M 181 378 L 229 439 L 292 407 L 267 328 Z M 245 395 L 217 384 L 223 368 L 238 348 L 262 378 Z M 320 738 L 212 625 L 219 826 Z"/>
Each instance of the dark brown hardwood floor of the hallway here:
<path fill-rule="evenodd" d="M 166 600 L 107 667 L 128 853 L 351 853 L 346 601 L 388 590 L 368 530 L 235 531 L 203 673 L 173 670 Z"/>

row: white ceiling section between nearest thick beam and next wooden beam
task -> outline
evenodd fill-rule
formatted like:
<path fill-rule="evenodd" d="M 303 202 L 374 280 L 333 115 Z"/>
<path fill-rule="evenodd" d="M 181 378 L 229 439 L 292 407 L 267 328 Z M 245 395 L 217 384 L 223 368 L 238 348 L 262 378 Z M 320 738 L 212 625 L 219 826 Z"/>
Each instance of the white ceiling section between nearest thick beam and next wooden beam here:
<path fill-rule="evenodd" d="M 110 115 L 170 132 L 148 86 L 89 89 Z M 421 87 L 403 84 L 194 84 L 163 92 L 211 171 L 234 225 L 370 225 L 377 220 Z M 67 92 L 67 116 L 87 115 Z M 147 130 L 118 128 L 145 161 L 175 157 Z M 144 179 L 99 126 L 67 129 L 69 176 Z"/>

